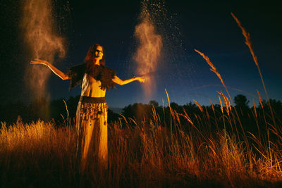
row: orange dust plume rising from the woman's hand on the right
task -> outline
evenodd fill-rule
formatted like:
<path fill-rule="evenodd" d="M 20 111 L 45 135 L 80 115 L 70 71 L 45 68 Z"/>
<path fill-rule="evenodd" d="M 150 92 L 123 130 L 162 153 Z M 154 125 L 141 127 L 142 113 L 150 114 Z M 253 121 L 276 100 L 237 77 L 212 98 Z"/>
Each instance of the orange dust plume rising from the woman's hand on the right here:
<path fill-rule="evenodd" d="M 135 37 L 138 42 L 137 51 L 133 59 L 137 62 L 137 75 L 146 75 L 145 83 L 142 87 L 145 96 L 149 98 L 156 89 L 154 73 L 157 70 L 159 58 L 161 56 L 162 39 L 157 35 L 155 27 L 150 20 L 149 13 L 141 13 L 141 23 L 135 27 Z"/>

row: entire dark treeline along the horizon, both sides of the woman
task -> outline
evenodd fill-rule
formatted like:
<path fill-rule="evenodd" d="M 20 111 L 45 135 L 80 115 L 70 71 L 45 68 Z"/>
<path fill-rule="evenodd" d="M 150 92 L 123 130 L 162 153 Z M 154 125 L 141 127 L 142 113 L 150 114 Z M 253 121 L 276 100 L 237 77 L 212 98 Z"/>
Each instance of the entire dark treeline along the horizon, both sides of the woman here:
<path fill-rule="evenodd" d="M 0 121 L 6 122 L 8 125 L 13 124 L 20 117 L 24 123 L 30 123 L 38 119 L 49 121 L 53 120 L 56 125 L 66 125 L 68 115 L 72 121 L 75 122 L 75 111 L 78 105 L 78 100 L 80 96 L 71 96 L 66 100 L 66 104 L 63 99 L 47 101 L 44 98 L 36 99 L 32 101 L 29 105 L 26 105 L 20 101 L 7 104 L 5 106 L 0 106 Z M 271 111 L 269 109 L 268 103 L 262 101 L 259 106 L 254 108 L 253 104 L 247 100 L 246 96 L 241 94 L 237 95 L 233 99 L 235 106 L 231 107 L 230 114 L 226 111 L 226 107 L 223 102 L 223 113 L 221 110 L 221 105 L 214 104 L 210 106 L 202 106 L 202 111 L 200 108 L 192 102 L 185 105 L 179 105 L 175 102 L 171 102 L 169 106 L 162 106 L 157 103 L 157 101 L 149 101 L 149 104 L 130 104 L 123 108 L 122 115 L 133 120 L 129 125 L 134 125 L 135 123 L 142 123 L 144 121 L 154 120 L 154 111 L 156 112 L 159 124 L 161 126 L 170 127 L 173 122 L 171 118 L 171 111 L 173 113 L 178 113 L 187 115 L 191 118 L 195 125 L 208 125 L 207 127 L 211 130 L 222 129 L 223 124 L 228 125 L 228 120 L 236 120 L 238 125 L 241 123 L 245 130 L 250 132 L 257 132 L 259 129 L 264 132 L 265 124 L 270 123 L 274 125 L 271 118 Z M 274 117 L 276 122 L 281 125 L 282 118 L 282 103 L 281 101 L 276 101 L 275 99 L 270 99 L 271 108 L 273 109 Z M 66 108 L 67 107 L 67 108 Z M 153 108 L 154 107 L 154 108 Z M 67 111 L 68 109 L 68 111 Z M 236 110 L 236 111 L 235 111 Z M 183 118 L 182 115 L 179 116 L 181 123 L 187 122 L 187 119 Z M 224 116 L 226 115 L 226 116 Z M 123 116 L 114 113 L 109 109 L 109 123 L 111 121 L 123 120 Z M 223 118 L 226 117 L 226 118 Z M 228 119 L 228 117 L 231 117 Z M 226 122 L 223 122 L 226 119 Z M 239 123 L 240 121 L 240 123 Z M 135 123 L 134 123 L 135 122 Z M 173 124 L 174 125 L 174 124 Z M 185 124 L 183 124 L 185 125 Z M 232 127 L 226 127 L 226 130 Z M 233 130 L 234 131 L 234 130 Z"/>

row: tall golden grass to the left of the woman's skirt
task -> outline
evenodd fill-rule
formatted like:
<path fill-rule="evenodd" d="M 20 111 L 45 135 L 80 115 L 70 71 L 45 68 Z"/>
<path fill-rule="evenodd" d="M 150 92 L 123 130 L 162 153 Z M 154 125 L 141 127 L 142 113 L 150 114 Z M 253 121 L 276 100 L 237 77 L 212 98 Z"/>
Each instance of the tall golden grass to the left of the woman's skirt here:
<path fill-rule="evenodd" d="M 18 121 L 12 126 L 1 123 L 0 132 L 0 187 L 73 183 L 72 127 L 55 129 L 42 121 L 25 125 Z"/>

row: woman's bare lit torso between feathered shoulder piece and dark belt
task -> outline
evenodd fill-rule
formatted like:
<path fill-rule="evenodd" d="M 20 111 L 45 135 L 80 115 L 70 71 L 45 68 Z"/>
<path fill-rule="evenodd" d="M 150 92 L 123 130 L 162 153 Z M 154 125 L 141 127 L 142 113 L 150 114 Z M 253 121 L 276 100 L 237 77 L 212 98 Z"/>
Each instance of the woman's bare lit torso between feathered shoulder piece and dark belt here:
<path fill-rule="evenodd" d="M 100 88 L 101 82 L 85 74 L 82 81 L 81 96 L 104 97 L 106 90 Z"/>

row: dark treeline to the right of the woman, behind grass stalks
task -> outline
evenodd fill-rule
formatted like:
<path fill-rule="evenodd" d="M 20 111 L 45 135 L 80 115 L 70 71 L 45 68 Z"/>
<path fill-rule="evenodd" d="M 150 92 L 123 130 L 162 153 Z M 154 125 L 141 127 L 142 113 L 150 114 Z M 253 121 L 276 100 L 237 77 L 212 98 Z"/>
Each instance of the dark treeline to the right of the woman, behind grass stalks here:
<path fill-rule="evenodd" d="M 279 124 L 281 124 L 281 118 L 282 118 L 282 103 L 281 101 L 276 101 L 275 99 L 270 99 L 271 108 L 274 112 L 275 120 L 278 121 Z M 235 119 L 240 119 L 241 123 L 245 127 L 252 128 L 251 125 L 254 125 L 255 123 L 255 129 L 257 128 L 255 119 L 261 119 L 263 118 L 263 122 L 259 122 L 264 124 L 265 120 L 268 123 L 272 124 L 271 119 L 271 111 L 269 109 L 269 104 L 266 101 L 262 101 L 262 103 L 259 103 L 259 106 L 256 106 L 254 108 L 253 104 L 250 105 L 250 101 L 247 100 L 247 97 L 241 94 L 238 94 L 234 97 L 233 102 L 235 106 L 231 106 L 231 112 L 233 117 Z M 210 106 L 202 106 L 202 111 L 200 108 L 192 102 L 189 102 L 185 105 L 178 105 L 175 102 L 171 102 L 171 109 L 169 106 L 159 106 L 157 101 L 149 101 L 149 104 L 132 104 L 129 106 L 125 106 L 123 108 L 123 115 L 126 118 L 133 118 L 137 122 L 141 122 L 144 119 L 152 119 L 153 113 L 152 108 L 154 106 L 154 109 L 156 113 L 159 115 L 160 119 L 163 119 L 163 124 L 168 124 L 171 120 L 171 110 L 173 112 L 176 112 L 178 114 L 185 114 L 187 113 L 188 116 L 191 118 L 192 122 L 197 123 L 197 121 L 200 121 L 200 118 L 208 118 L 209 123 L 214 124 L 220 124 L 222 115 L 228 115 L 226 111 L 226 106 L 224 104 L 224 101 L 222 101 L 223 106 L 223 113 L 221 111 L 221 105 L 220 104 L 211 104 Z M 213 110 L 214 108 L 214 110 Z M 236 111 L 235 111 L 236 110 Z M 238 116 L 237 116 L 237 114 Z M 255 116 L 257 113 L 257 116 Z M 231 115 L 231 116 L 232 116 Z M 265 119 L 264 116 L 265 115 Z M 181 116 L 180 116 L 181 117 Z M 183 120 L 183 118 L 180 118 Z"/>

